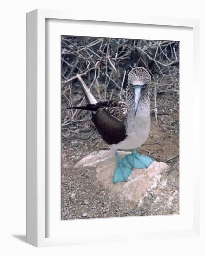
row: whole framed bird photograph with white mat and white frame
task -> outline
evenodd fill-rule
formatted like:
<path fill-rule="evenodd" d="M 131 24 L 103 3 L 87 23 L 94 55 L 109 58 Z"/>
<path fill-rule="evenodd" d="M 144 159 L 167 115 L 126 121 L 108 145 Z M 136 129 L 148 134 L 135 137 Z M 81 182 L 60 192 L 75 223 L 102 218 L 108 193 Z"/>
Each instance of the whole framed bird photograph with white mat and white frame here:
<path fill-rule="evenodd" d="M 199 21 L 93 18 L 27 13 L 27 243 L 197 236 Z"/>

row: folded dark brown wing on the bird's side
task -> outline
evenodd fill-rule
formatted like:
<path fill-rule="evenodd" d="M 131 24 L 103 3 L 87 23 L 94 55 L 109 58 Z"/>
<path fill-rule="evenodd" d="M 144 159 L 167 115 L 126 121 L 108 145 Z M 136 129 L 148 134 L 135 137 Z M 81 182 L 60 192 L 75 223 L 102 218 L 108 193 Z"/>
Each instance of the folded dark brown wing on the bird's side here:
<path fill-rule="evenodd" d="M 102 139 L 109 145 L 117 144 L 126 138 L 124 120 L 125 108 L 104 107 L 98 108 L 92 116 L 92 121 Z"/>

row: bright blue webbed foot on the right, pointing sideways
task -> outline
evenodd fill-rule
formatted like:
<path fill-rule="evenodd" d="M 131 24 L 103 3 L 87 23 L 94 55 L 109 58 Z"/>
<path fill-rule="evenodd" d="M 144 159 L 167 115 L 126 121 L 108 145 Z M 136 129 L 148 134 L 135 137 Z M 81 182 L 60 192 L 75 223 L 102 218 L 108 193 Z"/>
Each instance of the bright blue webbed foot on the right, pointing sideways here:
<path fill-rule="evenodd" d="M 131 154 L 128 154 L 125 156 L 127 158 L 127 161 L 132 166 L 132 168 L 148 168 L 149 165 L 153 162 L 154 159 L 152 159 L 149 156 L 140 155 L 136 153 L 136 150 L 133 149 Z"/>

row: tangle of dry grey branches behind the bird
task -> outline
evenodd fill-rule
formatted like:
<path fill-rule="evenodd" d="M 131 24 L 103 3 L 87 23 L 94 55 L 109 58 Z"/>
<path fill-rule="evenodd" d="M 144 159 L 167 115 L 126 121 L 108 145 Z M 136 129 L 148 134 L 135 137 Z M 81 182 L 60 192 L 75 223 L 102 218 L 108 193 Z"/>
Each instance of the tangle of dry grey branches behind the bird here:
<path fill-rule="evenodd" d="M 62 108 L 85 104 L 77 75 L 97 101 L 125 99 L 127 75 L 132 67 L 145 67 L 152 75 L 151 100 L 157 122 L 158 94 L 179 92 L 179 42 L 62 36 Z M 81 110 L 63 110 L 62 126 L 84 119 Z"/>

